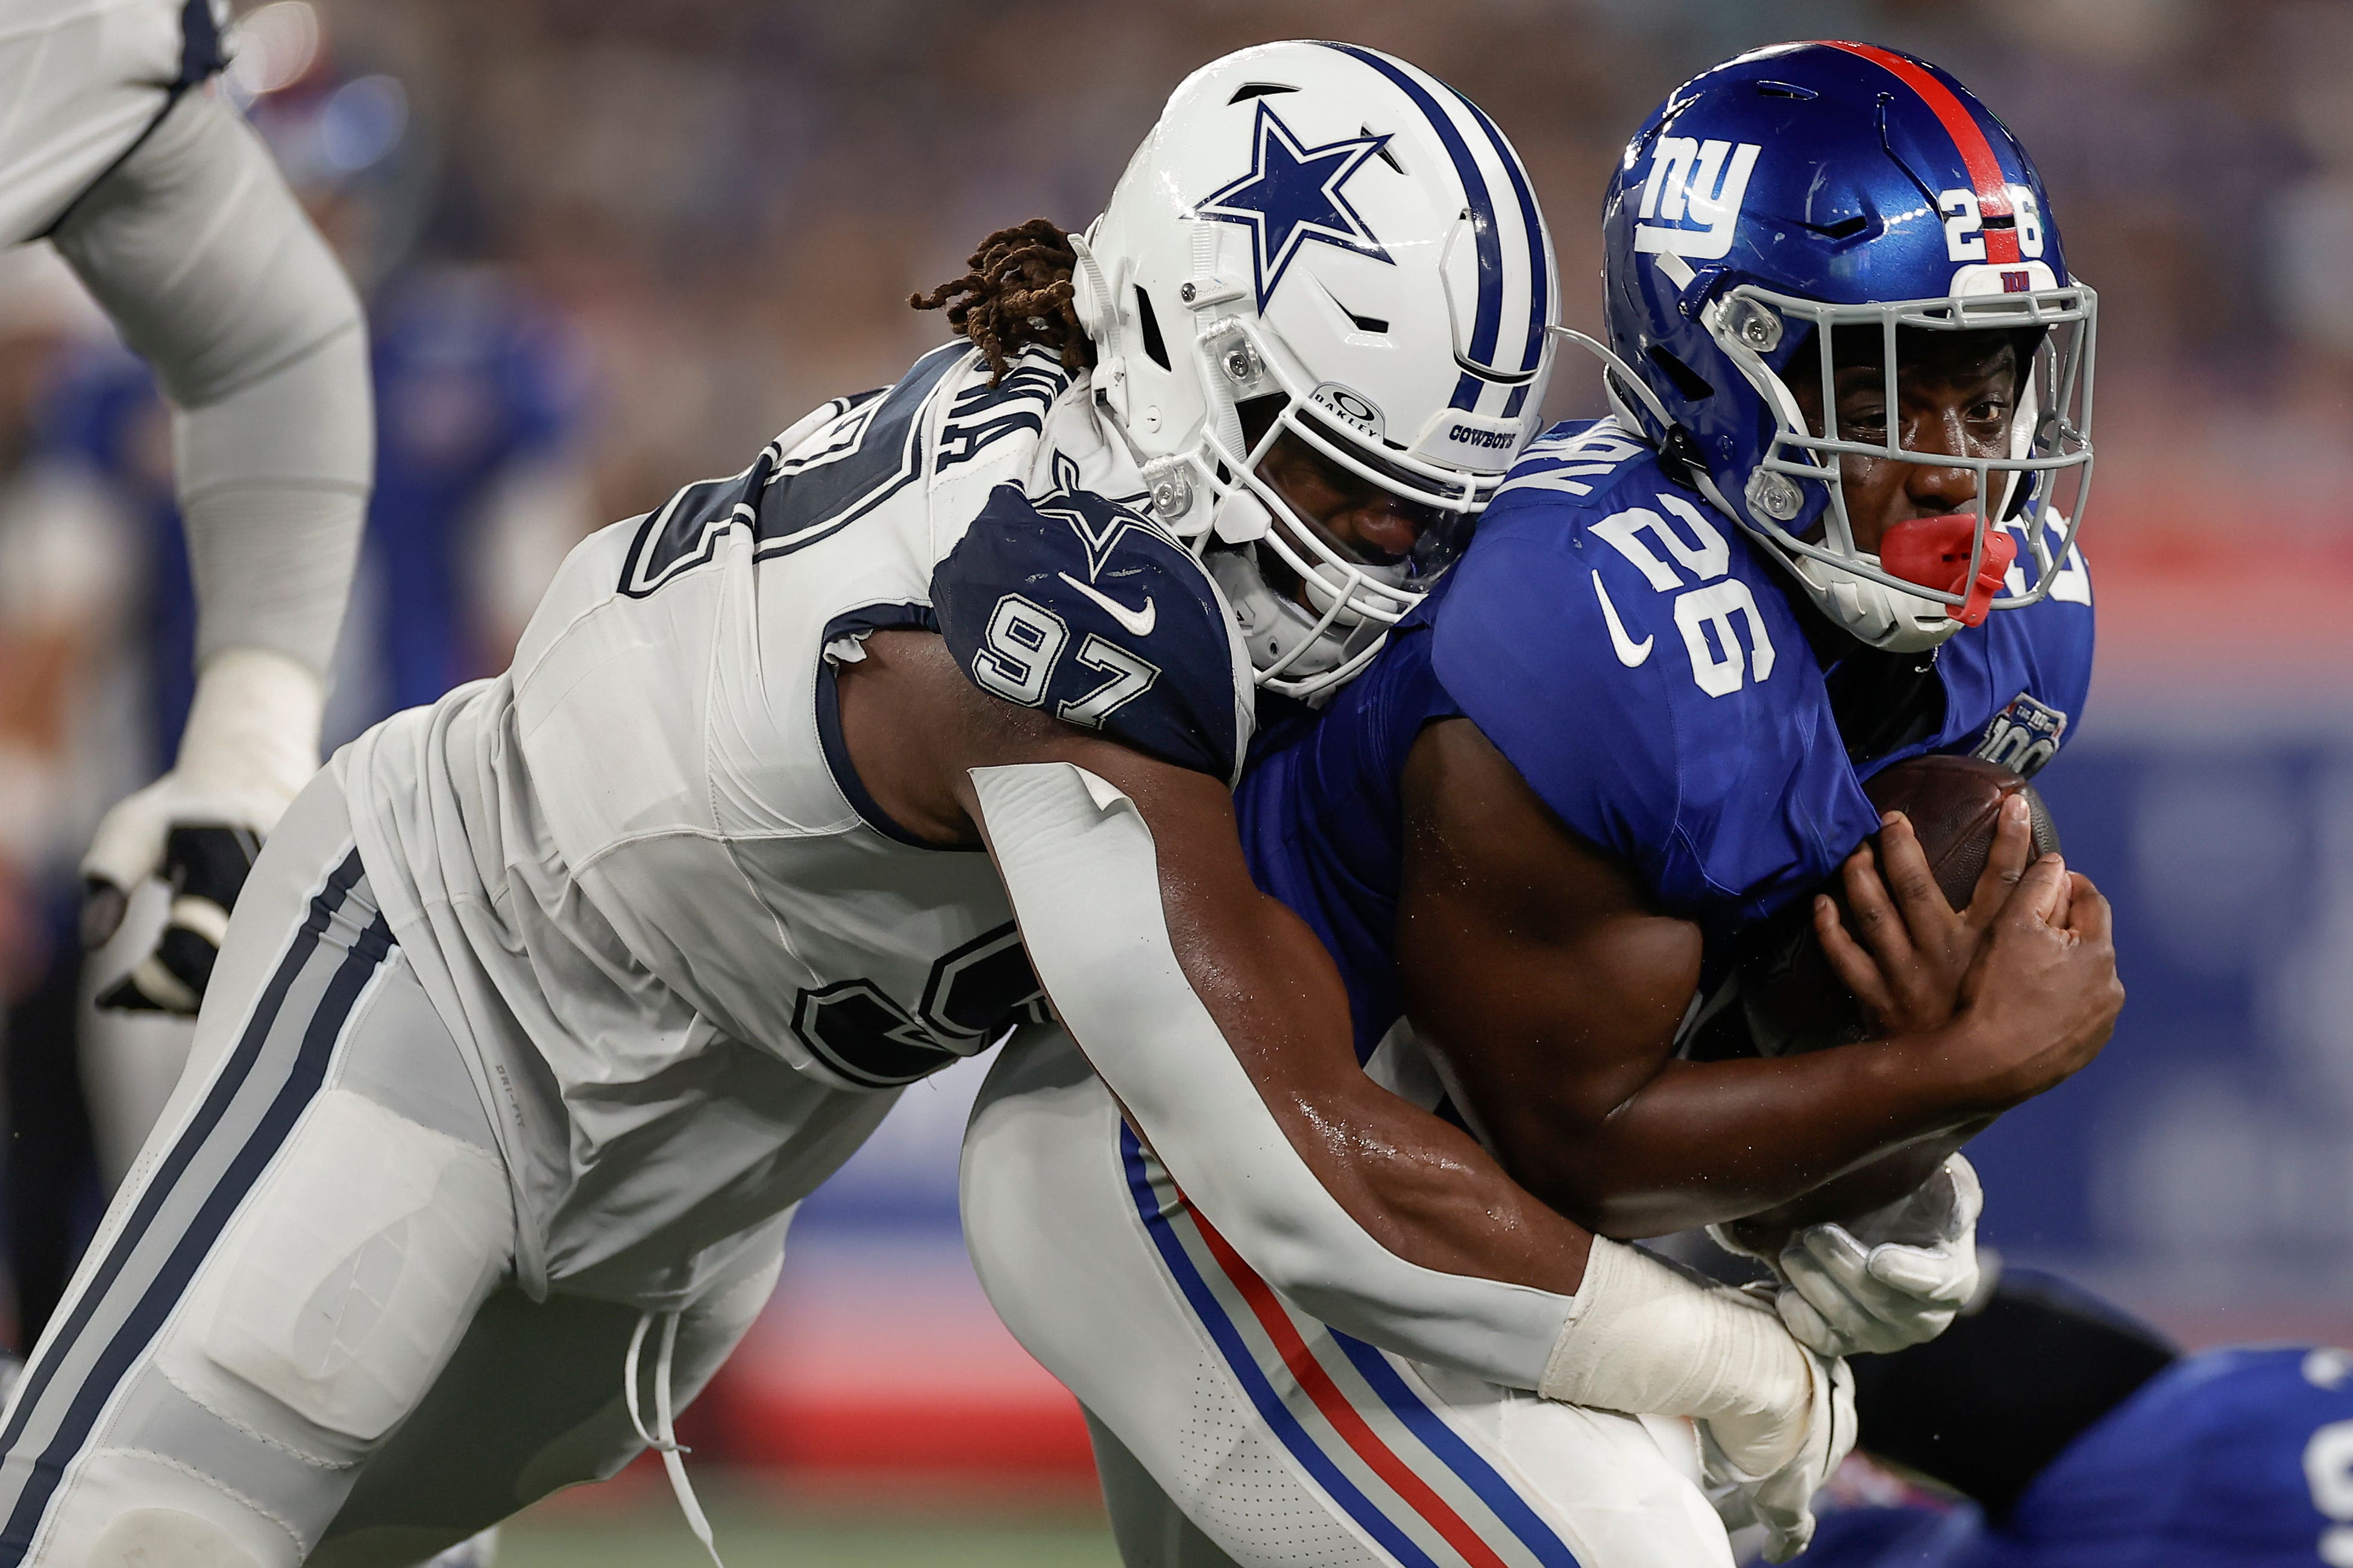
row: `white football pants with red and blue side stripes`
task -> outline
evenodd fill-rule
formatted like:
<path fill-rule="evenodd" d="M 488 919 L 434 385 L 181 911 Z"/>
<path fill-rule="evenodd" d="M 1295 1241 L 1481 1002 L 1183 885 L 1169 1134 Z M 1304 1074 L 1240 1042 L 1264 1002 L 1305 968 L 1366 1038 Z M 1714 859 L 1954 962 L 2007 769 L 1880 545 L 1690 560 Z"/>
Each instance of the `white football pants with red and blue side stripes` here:
<path fill-rule="evenodd" d="M 1421 1366 L 1289 1307 L 1056 1027 L 991 1070 L 965 1241 L 1087 1408 L 1127 1568 L 1732 1568 L 1689 1422 Z"/>

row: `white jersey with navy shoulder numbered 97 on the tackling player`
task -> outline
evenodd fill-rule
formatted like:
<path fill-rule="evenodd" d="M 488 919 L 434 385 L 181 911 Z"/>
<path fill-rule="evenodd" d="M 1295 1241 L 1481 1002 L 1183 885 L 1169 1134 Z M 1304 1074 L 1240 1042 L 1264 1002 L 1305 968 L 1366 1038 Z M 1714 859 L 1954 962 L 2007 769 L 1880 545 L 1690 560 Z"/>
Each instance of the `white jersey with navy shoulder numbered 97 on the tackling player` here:
<path fill-rule="evenodd" d="M 565 562 L 511 672 L 334 766 L 475 1056 L 527 1288 L 656 1305 L 899 1086 L 1040 1016 L 995 867 L 906 837 L 833 672 L 939 630 L 984 689 L 1233 780 L 1249 665 L 1087 376 L 925 355 Z M 711 1251 L 706 1251 L 711 1248 Z"/>

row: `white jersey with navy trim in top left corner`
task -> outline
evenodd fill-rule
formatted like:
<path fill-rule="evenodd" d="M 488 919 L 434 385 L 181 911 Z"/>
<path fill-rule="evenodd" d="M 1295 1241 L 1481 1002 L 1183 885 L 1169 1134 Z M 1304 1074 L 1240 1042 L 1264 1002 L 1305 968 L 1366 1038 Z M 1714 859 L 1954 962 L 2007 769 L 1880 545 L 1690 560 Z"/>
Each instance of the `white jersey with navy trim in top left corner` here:
<path fill-rule="evenodd" d="M 0 247 L 35 240 L 224 63 L 214 0 L 0 5 Z"/>

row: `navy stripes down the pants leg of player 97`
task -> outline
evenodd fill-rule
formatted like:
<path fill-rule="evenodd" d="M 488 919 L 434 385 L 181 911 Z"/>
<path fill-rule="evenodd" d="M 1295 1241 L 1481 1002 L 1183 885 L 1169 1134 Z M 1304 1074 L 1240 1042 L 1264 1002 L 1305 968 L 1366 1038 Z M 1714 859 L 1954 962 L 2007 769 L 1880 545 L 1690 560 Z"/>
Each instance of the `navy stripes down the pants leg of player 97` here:
<path fill-rule="evenodd" d="M 308 919 L 304 919 L 301 931 L 287 945 L 287 954 L 271 976 L 271 983 L 261 994 L 261 1004 L 254 1009 L 254 1016 L 224 1065 L 221 1077 L 214 1081 L 205 1103 L 188 1121 L 188 1128 L 181 1133 L 179 1143 L 172 1145 L 172 1152 L 139 1194 L 139 1208 L 115 1237 L 106 1262 L 92 1276 L 89 1286 L 78 1293 L 68 1321 L 52 1333 L 52 1338 L 42 1345 L 42 1354 L 31 1368 L 26 1368 L 28 1387 L 16 1401 L 16 1410 L 7 1429 L 0 1432 L 0 1453 L 12 1453 L 24 1439 L 24 1429 L 33 1413 L 47 1401 L 54 1368 L 66 1361 L 75 1340 L 89 1326 L 89 1319 L 99 1312 L 106 1295 L 129 1267 L 139 1241 L 146 1237 L 146 1229 L 179 1187 L 205 1140 L 219 1128 L 238 1095 L 245 1091 L 247 1079 L 259 1065 L 264 1046 L 280 1020 L 287 992 L 311 961 L 320 945 L 320 936 L 327 931 L 327 922 L 344 905 L 358 879 L 360 856 L 353 851 L 334 870 L 334 875 L 327 877 L 327 886 L 311 900 Z M 33 1462 L 31 1474 L 24 1479 L 16 1507 L 9 1512 L 7 1526 L 0 1528 L 0 1566 L 19 1563 L 31 1549 L 33 1533 L 40 1526 L 40 1516 L 47 1512 L 49 1497 L 64 1479 L 66 1465 L 73 1462 L 73 1455 L 89 1439 L 99 1413 L 106 1408 L 106 1401 L 113 1399 L 115 1382 L 129 1371 L 153 1335 L 162 1328 L 162 1321 L 172 1314 L 172 1307 L 179 1302 L 179 1295 L 186 1291 L 195 1269 L 212 1251 L 212 1244 L 219 1239 L 221 1229 L 226 1229 L 228 1218 L 235 1213 L 238 1204 L 245 1201 L 245 1194 L 259 1180 L 271 1157 L 275 1157 L 294 1121 L 301 1117 L 301 1110 L 318 1093 L 327 1074 L 327 1063 L 334 1056 L 334 1041 L 344 1032 L 344 1023 L 348 1020 L 360 990 L 367 985 L 369 973 L 384 961 L 391 945 L 391 926 L 384 917 L 376 917 L 336 966 L 334 978 L 327 983 L 327 990 L 304 1030 L 292 1070 L 273 1095 L 268 1110 L 261 1114 L 254 1135 L 238 1150 L 228 1171 L 207 1194 L 195 1222 L 181 1232 L 172 1253 L 165 1258 L 162 1267 L 132 1307 L 127 1321 L 115 1331 L 113 1340 L 99 1354 L 99 1361 L 80 1380 L 56 1434 L 49 1439 L 42 1455 Z"/>

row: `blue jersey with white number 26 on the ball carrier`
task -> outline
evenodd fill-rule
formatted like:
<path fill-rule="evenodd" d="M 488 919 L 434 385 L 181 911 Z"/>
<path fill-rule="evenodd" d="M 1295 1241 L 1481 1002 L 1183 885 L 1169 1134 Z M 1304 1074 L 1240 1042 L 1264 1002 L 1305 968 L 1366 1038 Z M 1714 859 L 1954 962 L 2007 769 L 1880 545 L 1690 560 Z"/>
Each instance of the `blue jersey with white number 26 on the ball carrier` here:
<path fill-rule="evenodd" d="M 1612 421 L 1534 442 L 1464 562 L 1322 717 L 1268 729 L 1238 795 L 1259 886 L 1339 959 L 1358 1051 L 1400 1011 L 1400 776 L 1433 719 L 1468 717 L 1659 907 L 1722 936 L 1878 827 L 1878 769 L 1977 752 L 2031 773 L 2082 712 L 2080 557 L 2045 602 L 1937 649 L 1918 724 L 1871 748 L 1840 731 L 1833 686 L 1885 656 L 1831 632 L 1824 658 L 1800 614 L 1781 567 Z"/>

